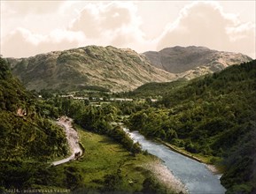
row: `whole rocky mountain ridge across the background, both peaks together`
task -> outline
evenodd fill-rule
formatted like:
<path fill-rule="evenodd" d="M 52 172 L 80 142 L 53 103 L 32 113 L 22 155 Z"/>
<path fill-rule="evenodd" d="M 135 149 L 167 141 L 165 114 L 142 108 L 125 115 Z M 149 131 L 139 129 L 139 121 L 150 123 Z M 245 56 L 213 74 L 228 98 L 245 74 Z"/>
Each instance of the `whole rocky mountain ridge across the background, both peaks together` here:
<path fill-rule="evenodd" d="M 95 86 L 124 92 L 150 82 L 196 78 L 251 58 L 195 46 L 138 54 L 131 48 L 93 45 L 6 60 L 29 90 L 70 91 Z"/>

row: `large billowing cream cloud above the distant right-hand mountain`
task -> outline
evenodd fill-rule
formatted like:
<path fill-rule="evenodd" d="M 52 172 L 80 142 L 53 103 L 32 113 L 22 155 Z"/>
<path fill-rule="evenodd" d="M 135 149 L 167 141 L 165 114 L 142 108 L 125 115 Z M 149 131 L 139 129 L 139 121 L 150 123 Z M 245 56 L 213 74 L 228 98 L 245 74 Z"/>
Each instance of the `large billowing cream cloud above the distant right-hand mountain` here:
<path fill-rule="evenodd" d="M 206 46 L 255 57 L 255 25 L 241 22 L 236 14 L 225 13 L 218 3 L 193 3 L 167 26 L 159 38 L 158 49 L 176 45 Z"/>

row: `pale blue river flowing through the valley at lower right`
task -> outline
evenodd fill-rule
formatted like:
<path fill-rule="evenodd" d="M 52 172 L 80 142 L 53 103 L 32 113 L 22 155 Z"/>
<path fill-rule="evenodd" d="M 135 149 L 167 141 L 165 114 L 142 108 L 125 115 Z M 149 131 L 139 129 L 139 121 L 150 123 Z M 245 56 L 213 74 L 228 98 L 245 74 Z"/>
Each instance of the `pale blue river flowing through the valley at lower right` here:
<path fill-rule="evenodd" d="M 222 194 L 225 188 L 221 185 L 220 175 L 206 168 L 206 164 L 175 153 L 160 143 L 144 138 L 138 131 L 128 131 L 129 136 L 142 146 L 144 150 L 164 161 L 164 164 L 182 181 L 191 194 Z"/>

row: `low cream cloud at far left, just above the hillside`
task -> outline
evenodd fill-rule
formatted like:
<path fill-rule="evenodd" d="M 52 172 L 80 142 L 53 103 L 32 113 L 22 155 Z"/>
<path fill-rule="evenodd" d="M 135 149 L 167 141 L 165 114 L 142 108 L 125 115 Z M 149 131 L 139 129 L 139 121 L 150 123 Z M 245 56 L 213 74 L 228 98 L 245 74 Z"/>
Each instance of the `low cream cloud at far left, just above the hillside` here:
<path fill-rule="evenodd" d="M 1 42 L 4 57 L 27 57 L 50 52 L 76 48 L 84 40 L 84 35 L 79 32 L 54 30 L 49 35 L 33 34 L 24 28 L 18 28 L 5 37 Z"/>

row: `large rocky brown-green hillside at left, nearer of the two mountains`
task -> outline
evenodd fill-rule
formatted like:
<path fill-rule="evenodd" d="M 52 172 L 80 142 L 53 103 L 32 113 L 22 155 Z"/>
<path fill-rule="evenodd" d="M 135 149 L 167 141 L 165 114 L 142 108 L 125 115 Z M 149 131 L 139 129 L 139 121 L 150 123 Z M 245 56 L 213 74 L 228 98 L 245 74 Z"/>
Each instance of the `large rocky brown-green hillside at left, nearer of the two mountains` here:
<path fill-rule="evenodd" d="M 175 74 L 159 70 L 131 49 L 111 46 L 74 48 L 28 58 L 8 58 L 12 72 L 29 90 L 74 90 L 102 86 L 127 91 L 148 82 L 165 82 Z"/>

